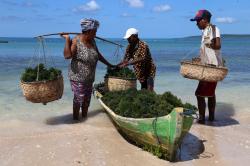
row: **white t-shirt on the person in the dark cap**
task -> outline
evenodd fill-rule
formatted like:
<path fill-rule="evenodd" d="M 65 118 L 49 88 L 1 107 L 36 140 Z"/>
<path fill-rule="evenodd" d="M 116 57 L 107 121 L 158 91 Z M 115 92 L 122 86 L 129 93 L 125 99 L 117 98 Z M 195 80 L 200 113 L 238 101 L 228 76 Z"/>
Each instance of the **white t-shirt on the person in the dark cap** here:
<path fill-rule="evenodd" d="M 217 37 L 220 37 L 220 30 L 217 27 L 215 27 L 215 36 L 213 34 L 211 25 L 207 26 L 202 31 L 200 58 L 203 64 L 213 64 L 216 66 L 223 66 L 220 50 L 214 50 L 205 45 L 205 44 L 211 44 L 211 40 Z"/>

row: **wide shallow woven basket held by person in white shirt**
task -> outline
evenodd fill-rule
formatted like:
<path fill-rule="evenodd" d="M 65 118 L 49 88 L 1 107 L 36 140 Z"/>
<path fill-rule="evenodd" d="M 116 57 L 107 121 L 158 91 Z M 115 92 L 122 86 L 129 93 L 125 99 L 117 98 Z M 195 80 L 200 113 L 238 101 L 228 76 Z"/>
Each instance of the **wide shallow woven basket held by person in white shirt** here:
<path fill-rule="evenodd" d="M 226 67 L 214 67 L 193 63 L 192 61 L 182 61 L 180 73 L 183 77 L 201 81 L 217 82 L 222 81 L 227 73 Z"/>

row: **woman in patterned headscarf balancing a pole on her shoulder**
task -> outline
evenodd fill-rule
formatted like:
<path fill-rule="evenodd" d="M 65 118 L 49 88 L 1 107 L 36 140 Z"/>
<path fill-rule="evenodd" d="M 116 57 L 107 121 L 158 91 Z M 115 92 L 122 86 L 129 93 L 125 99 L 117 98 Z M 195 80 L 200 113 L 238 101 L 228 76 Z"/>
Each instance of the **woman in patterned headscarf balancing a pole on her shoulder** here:
<path fill-rule="evenodd" d="M 64 57 L 71 59 L 68 76 L 74 93 L 74 120 L 79 120 L 80 108 L 82 117 L 87 117 L 97 61 L 100 60 L 105 65 L 113 67 L 98 51 L 94 40 L 99 22 L 94 19 L 81 19 L 80 24 L 82 33 L 76 35 L 72 41 L 68 34 L 61 35 L 66 40 Z"/>

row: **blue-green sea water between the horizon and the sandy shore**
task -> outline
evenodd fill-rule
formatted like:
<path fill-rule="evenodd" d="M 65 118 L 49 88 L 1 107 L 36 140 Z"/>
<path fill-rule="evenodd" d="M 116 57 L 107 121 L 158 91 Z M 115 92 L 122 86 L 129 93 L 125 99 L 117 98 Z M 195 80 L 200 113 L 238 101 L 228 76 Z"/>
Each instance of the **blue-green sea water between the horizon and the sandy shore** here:
<path fill-rule="evenodd" d="M 46 38 L 45 54 L 39 42 L 34 38 L 0 38 L 8 43 L 0 43 L 0 120 L 21 119 L 37 120 L 41 117 L 71 113 L 72 92 L 67 78 L 69 60 L 63 57 L 64 40 Z M 124 46 L 122 39 L 110 39 Z M 155 90 L 157 93 L 171 91 L 183 101 L 196 104 L 194 92 L 198 81 L 183 78 L 180 73 L 180 61 L 198 56 L 200 37 L 175 39 L 144 39 L 149 44 L 157 66 Z M 123 58 L 125 47 L 97 40 L 104 57 L 113 64 Z M 237 111 L 249 111 L 250 106 L 250 36 L 222 36 L 222 55 L 229 68 L 227 77 L 218 83 L 217 103 L 230 104 Z M 45 57 L 45 58 L 44 58 Z M 46 61 L 45 61 L 46 60 Z M 34 104 L 25 100 L 20 88 L 20 77 L 26 67 L 39 62 L 47 66 L 58 67 L 64 75 L 64 94 L 62 99 L 47 105 Z M 96 83 L 103 81 L 106 67 L 98 63 Z M 138 83 L 138 88 L 139 88 Z M 100 108 L 92 98 L 91 109 Z"/>

